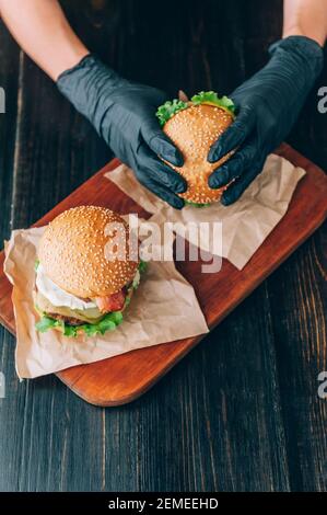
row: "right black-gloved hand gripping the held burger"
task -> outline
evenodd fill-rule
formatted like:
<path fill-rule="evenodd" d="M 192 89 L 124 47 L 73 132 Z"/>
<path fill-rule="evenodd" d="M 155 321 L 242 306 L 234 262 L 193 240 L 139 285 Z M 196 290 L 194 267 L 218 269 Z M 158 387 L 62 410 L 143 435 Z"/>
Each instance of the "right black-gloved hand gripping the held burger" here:
<path fill-rule="evenodd" d="M 265 160 L 288 136 L 316 78 L 322 71 L 322 47 L 304 36 L 290 36 L 270 46 L 268 65 L 229 95 L 237 117 L 213 144 L 208 160 L 215 162 L 236 149 L 208 180 L 212 188 L 234 179 L 222 204 L 237 201 L 261 172 Z"/>

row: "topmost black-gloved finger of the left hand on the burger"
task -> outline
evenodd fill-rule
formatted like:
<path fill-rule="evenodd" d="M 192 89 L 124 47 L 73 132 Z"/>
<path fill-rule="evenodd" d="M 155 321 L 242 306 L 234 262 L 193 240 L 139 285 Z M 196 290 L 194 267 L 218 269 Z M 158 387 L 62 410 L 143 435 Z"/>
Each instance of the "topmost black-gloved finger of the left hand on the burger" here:
<path fill-rule="evenodd" d="M 183 167 L 184 159 L 182 152 L 175 147 L 168 136 L 163 133 L 154 116 L 153 121 L 148 119 L 143 124 L 141 135 L 154 153 L 175 167 Z"/>

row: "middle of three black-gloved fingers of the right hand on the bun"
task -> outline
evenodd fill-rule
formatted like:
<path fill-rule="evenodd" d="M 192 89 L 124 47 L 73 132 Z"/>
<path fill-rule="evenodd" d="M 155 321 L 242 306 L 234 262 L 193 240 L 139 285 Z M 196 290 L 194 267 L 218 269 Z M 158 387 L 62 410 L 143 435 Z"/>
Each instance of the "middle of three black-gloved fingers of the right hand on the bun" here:
<path fill-rule="evenodd" d="M 224 164 L 214 170 L 209 175 L 208 184 L 210 187 L 222 187 L 232 179 L 236 179 L 247 170 L 254 162 L 258 151 L 255 141 L 248 142 L 236 151 Z"/>

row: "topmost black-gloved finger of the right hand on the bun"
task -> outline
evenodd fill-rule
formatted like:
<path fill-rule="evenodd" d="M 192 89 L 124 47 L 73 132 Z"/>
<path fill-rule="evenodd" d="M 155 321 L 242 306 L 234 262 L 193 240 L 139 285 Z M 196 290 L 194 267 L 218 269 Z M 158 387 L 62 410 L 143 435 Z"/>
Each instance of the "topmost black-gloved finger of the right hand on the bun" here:
<path fill-rule="evenodd" d="M 244 108 L 233 124 L 211 146 L 208 154 L 209 162 L 219 161 L 231 150 L 243 145 L 255 126 L 253 110 Z"/>

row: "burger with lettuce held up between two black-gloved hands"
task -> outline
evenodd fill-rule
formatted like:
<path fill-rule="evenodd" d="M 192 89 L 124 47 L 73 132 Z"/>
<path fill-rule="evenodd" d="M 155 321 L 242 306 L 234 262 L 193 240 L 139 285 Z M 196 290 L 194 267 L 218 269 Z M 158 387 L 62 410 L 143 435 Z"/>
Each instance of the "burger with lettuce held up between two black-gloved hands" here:
<path fill-rule="evenodd" d="M 172 139 L 184 157 L 183 167 L 170 165 L 187 181 L 187 191 L 179 194 L 188 204 L 198 207 L 219 201 L 226 190 L 212 190 L 208 178 L 233 152 L 214 163 L 208 161 L 212 144 L 235 118 L 235 106 L 227 96 L 219 98 L 213 91 L 201 91 L 190 101 L 173 100 L 157 108 L 156 116 L 163 131 Z"/>

